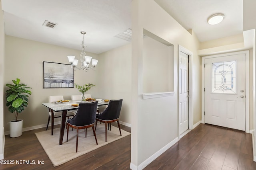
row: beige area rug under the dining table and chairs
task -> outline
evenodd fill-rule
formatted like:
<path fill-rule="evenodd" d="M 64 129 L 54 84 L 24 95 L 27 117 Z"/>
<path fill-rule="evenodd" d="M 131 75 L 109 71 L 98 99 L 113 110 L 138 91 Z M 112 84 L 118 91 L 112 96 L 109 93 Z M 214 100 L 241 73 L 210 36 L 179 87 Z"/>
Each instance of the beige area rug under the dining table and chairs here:
<path fill-rule="evenodd" d="M 68 142 L 67 139 L 67 131 L 65 129 L 63 143 L 59 145 L 59 135 L 60 128 L 54 129 L 53 135 L 51 135 L 51 130 L 42 131 L 39 133 L 35 133 L 38 141 L 41 143 L 44 151 L 52 161 L 53 166 L 59 166 L 68 162 L 78 156 L 86 154 L 92 150 L 95 150 L 99 147 L 107 145 L 113 141 L 121 139 L 127 135 L 130 135 L 129 132 L 126 132 L 121 129 L 122 136 L 120 136 L 119 129 L 111 126 L 111 131 L 107 131 L 107 142 L 105 142 L 105 124 L 98 123 L 96 129 L 96 137 L 98 141 L 98 145 L 96 145 L 96 141 L 93 135 L 92 127 L 87 129 L 87 137 L 85 137 L 84 129 L 79 130 L 78 136 L 78 150 L 76 152 L 76 129 L 69 128 L 68 131 Z"/>

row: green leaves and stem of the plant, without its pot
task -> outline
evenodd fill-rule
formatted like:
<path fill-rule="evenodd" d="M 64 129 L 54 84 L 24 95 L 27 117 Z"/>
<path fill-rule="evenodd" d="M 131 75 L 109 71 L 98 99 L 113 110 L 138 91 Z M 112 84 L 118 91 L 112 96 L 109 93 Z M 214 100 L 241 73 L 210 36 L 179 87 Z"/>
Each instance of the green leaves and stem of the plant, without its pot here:
<path fill-rule="evenodd" d="M 6 90 L 6 106 L 11 113 L 14 113 L 16 121 L 18 118 L 18 113 L 24 111 L 25 107 L 28 106 L 28 94 L 31 94 L 26 84 L 20 83 L 20 79 L 12 80 L 13 84 L 6 84 L 9 88 Z"/>

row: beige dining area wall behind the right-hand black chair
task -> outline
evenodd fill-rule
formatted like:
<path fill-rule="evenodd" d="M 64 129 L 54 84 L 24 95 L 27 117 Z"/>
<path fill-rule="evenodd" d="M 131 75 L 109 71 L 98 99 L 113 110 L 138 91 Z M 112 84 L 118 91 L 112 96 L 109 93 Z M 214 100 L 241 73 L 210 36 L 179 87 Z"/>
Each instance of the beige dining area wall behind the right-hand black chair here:
<path fill-rule="evenodd" d="M 99 55 L 97 71 L 99 94 L 107 99 L 123 99 L 121 123 L 131 125 L 131 57 L 132 45 L 124 45 Z"/>

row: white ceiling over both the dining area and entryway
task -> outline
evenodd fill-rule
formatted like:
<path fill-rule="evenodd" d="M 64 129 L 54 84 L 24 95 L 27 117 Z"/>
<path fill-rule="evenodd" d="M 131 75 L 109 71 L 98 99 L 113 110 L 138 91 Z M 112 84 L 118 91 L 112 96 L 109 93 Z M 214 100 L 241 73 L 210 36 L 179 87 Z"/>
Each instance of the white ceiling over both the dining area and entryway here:
<path fill-rule="evenodd" d="M 200 42 L 242 33 L 242 0 L 155 0 Z M 132 0 L 2 0 L 6 35 L 102 53 L 129 43 L 116 35 L 131 28 Z M 223 13 L 209 25 L 207 18 Z M 45 20 L 57 23 L 49 28 Z"/>

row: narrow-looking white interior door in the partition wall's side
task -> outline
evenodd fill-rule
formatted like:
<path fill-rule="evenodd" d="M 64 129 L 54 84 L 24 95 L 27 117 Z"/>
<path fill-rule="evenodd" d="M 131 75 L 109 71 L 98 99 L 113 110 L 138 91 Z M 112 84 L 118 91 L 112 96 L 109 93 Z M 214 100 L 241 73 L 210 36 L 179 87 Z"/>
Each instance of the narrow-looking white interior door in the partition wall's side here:
<path fill-rule="evenodd" d="M 179 123 L 180 134 L 188 130 L 188 55 L 179 53 Z"/>

